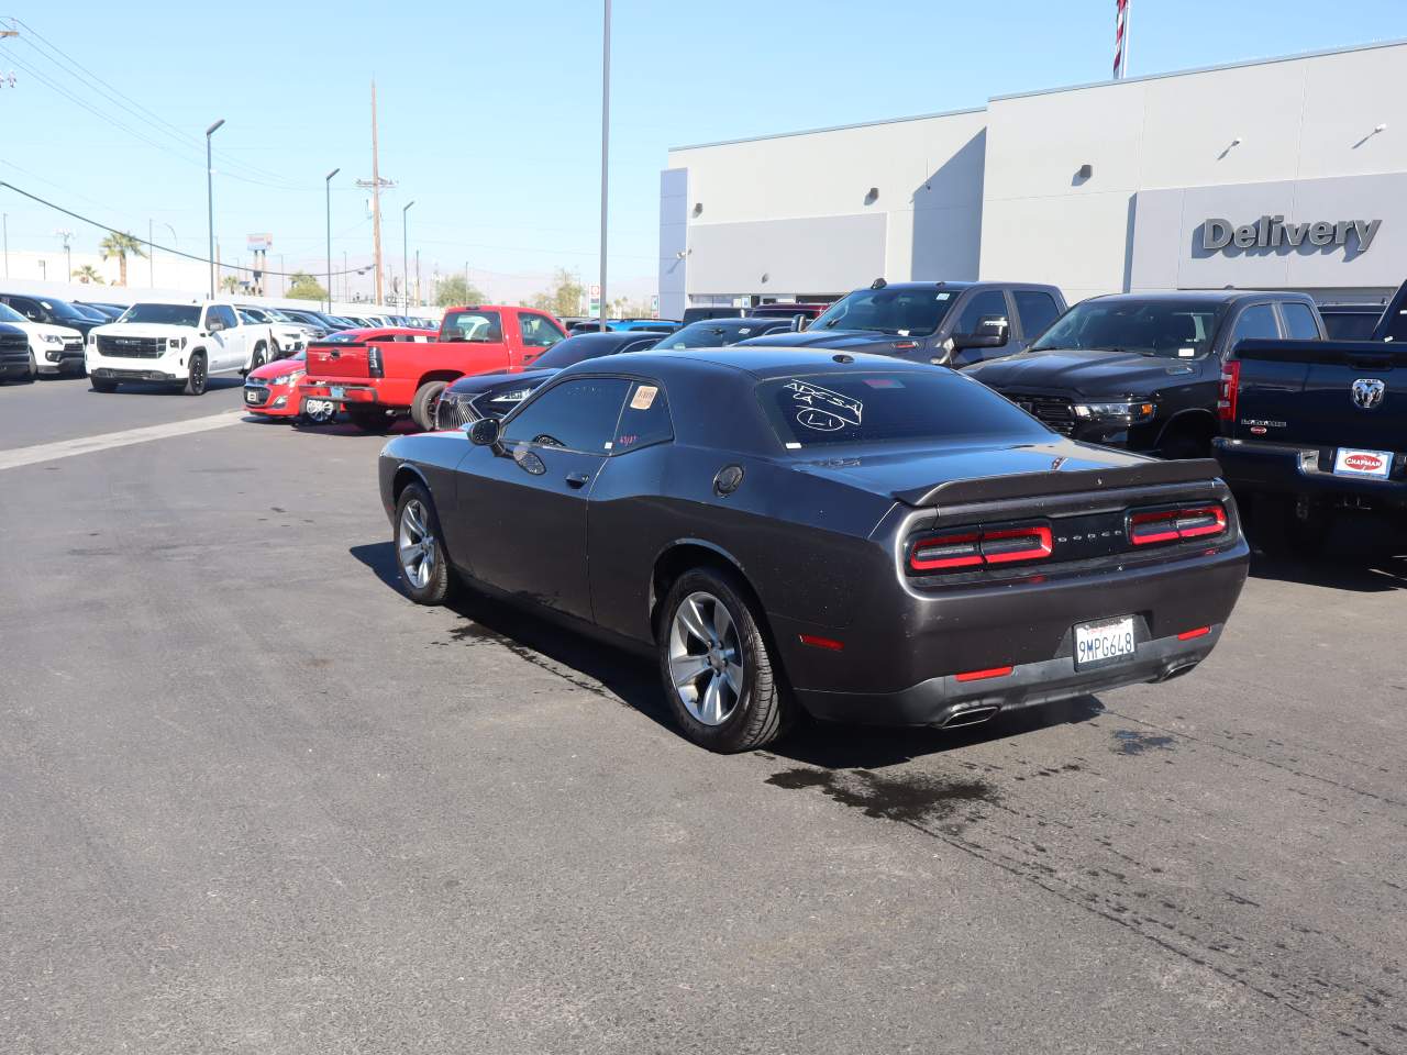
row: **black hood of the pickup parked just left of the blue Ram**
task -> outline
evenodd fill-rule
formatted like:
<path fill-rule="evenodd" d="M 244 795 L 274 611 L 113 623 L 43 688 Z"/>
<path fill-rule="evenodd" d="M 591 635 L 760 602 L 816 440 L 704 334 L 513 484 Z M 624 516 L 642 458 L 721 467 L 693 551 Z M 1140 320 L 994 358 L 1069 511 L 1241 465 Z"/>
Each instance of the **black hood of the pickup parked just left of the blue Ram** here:
<path fill-rule="evenodd" d="M 1150 395 L 1199 373 L 1197 360 L 1120 352 L 1020 352 L 964 370 L 999 391 L 1069 392 L 1092 398 Z"/>

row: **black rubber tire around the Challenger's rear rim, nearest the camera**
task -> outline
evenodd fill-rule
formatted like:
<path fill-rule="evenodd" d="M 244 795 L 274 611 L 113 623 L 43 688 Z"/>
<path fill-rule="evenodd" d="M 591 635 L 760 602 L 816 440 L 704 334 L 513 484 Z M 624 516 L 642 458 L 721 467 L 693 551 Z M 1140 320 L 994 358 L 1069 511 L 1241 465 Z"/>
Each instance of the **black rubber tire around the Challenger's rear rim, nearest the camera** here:
<path fill-rule="evenodd" d="M 701 654 L 689 651 L 688 646 L 691 641 L 687 640 L 688 634 L 677 629 L 677 616 L 687 602 L 694 601 L 695 612 L 708 606 L 708 601 L 695 601 L 695 598 L 701 596 L 722 605 L 732 630 L 725 632 L 722 640 L 715 637 L 715 641 L 723 646 L 719 648 L 723 665 L 712 668 L 701 665 L 695 679 L 681 689 L 677 685 L 675 671 L 681 670 L 687 672 L 689 670 L 688 664 L 681 664 L 681 644 L 688 651 L 682 657 L 684 660 L 702 661 L 705 664 L 712 663 L 712 650 Z M 718 627 L 716 609 L 711 616 L 706 616 L 705 622 L 711 630 Z M 785 731 L 794 708 L 782 691 L 777 672 L 772 670 L 767 637 L 737 575 L 708 567 L 694 568 L 680 575 L 670 587 L 660 608 L 657 639 L 660 679 L 670 702 L 670 710 L 674 713 L 674 720 L 685 737 L 699 747 L 706 747 L 709 751 L 732 754 L 753 751 L 771 743 Z M 692 643 L 701 644 L 702 640 L 702 637 L 696 637 Z M 730 643 L 733 643 L 733 648 L 727 647 Z M 722 688 L 723 682 L 718 682 L 720 677 L 726 679 L 725 668 L 727 667 L 726 657 L 729 653 L 734 657 L 741 657 L 740 684 L 736 689 L 725 689 Z M 681 665 L 675 667 L 673 664 Z M 691 713 L 691 705 L 685 701 L 685 692 L 692 691 L 695 693 L 694 709 L 706 712 L 706 708 L 698 701 L 706 696 L 702 682 L 708 679 L 718 682 L 720 685 L 718 691 L 726 693 L 733 701 L 730 710 L 716 716 L 720 717 L 718 722 L 701 720 Z M 732 682 L 726 684 L 730 685 Z"/>

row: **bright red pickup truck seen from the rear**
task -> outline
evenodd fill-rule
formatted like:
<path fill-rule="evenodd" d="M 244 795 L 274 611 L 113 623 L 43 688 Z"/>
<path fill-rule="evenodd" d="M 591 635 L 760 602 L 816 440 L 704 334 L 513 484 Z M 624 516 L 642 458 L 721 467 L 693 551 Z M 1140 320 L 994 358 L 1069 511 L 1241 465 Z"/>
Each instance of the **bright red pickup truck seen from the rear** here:
<path fill-rule="evenodd" d="M 340 402 L 353 425 L 367 430 L 407 412 L 419 428 L 433 429 L 440 392 L 460 377 L 518 373 L 566 336 L 557 319 L 532 308 L 447 308 L 431 340 L 310 343 L 298 394 Z"/>

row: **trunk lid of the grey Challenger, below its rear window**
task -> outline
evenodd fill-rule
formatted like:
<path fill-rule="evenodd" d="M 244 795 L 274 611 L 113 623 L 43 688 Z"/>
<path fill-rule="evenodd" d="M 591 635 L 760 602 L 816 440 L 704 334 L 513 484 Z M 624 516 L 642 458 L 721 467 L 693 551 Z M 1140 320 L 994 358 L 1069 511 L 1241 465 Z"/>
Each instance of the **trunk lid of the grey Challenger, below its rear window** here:
<path fill-rule="evenodd" d="M 957 480 L 993 480 L 1031 473 L 1078 473 L 1124 468 L 1151 459 L 1076 443 L 1051 435 L 1048 443 L 974 443 L 968 446 L 916 447 L 902 445 L 882 452 L 836 453 L 803 460 L 805 473 L 830 477 L 874 494 L 900 497 Z"/>

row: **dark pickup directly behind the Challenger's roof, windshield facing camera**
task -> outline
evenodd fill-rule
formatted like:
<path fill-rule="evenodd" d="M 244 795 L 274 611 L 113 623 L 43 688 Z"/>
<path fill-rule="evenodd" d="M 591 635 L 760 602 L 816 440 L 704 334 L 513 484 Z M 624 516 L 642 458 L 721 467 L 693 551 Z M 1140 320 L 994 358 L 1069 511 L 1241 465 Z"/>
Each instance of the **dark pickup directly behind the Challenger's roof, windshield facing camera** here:
<path fill-rule="evenodd" d="M 1054 286 L 886 283 L 877 279 L 826 308 L 805 331 L 741 342 L 822 352 L 871 352 L 967 367 L 1020 352 L 1062 311 Z M 688 315 L 688 312 L 685 312 Z"/>

